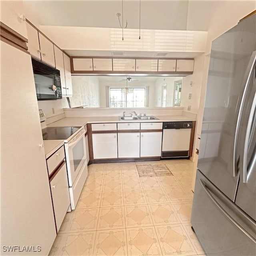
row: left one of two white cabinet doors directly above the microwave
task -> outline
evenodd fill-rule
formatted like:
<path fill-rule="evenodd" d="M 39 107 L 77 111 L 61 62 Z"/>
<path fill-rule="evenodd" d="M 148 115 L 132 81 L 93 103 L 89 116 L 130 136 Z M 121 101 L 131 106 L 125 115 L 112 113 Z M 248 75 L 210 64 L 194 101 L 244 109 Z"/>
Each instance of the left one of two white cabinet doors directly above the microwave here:
<path fill-rule="evenodd" d="M 28 51 L 32 56 L 41 60 L 38 30 L 28 24 L 28 22 L 26 22 L 26 27 L 28 31 Z"/>

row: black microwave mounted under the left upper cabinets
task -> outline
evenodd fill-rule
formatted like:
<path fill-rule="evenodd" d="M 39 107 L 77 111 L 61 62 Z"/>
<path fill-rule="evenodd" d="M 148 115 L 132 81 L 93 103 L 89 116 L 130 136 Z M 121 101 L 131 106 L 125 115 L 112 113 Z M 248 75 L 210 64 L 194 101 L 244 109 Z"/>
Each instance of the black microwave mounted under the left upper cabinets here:
<path fill-rule="evenodd" d="M 62 99 L 60 70 L 32 58 L 37 100 Z"/>

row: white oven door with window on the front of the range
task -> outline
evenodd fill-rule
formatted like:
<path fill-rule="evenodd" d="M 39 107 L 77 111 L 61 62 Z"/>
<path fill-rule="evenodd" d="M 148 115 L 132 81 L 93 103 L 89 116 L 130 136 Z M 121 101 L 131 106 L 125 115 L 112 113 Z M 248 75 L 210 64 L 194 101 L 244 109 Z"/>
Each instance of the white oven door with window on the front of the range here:
<path fill-rule="evenodd" d="M 68 183 L 72 187 L 78 174 L 86 162 L 85 132 L 80 132 L 78 138 L 65 143 Z"/>

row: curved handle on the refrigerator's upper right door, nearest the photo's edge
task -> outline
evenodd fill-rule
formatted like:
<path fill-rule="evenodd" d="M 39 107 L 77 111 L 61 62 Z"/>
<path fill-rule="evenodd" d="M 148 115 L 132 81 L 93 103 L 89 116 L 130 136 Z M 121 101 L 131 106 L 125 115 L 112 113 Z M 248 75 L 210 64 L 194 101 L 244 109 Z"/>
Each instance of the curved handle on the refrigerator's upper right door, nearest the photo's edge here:
<path fill-rule="evenodd" d="M 254 95 L 253 102 L 252 102 L 252 108 L 250 110 L 250 115 L 249 115 L 249 120 L 247 123 L 247 128 L 246 128 L 246 135 L 245 135 L 245 141 L 244 141 L 244 158 L 243 158 L 243 182 L 247 182 L 247 177 L 250 176 L 250 173 L 252 172 L 253 168 L 249 169 L 249 172 L 247 172 L 247 150 L 248 150 L 248 145 L 249 145 L 249 140 L 250 140 L 250 132 L 251 132 L 251 127 L 252 123 L 254 121 L 254 114 L 256 111 L 256 94 Z"/>

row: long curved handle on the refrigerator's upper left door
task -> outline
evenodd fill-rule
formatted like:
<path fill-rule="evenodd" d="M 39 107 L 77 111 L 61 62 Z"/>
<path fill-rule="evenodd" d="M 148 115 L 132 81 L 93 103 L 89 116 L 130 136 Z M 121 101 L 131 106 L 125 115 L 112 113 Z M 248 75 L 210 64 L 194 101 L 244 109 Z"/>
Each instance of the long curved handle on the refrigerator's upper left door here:
<path fill-rule="evenodd" d="M 248 87 L 249 87 L 250 77 L 254 70 L 255 64 L 256 64 L 256 51 L 252 52 L 249 64 L 248 64 L 246 72 L 245 72 L 246 75 L 244 76 L 244 79 L 243 79 L 245 86 L 244 86 L 244 91 L 242 94 L 241 104 L 240 104 L 240 107 L 238 110 L 238 117 L 237 117 L 237 122 L 236 122 L 236 130 L 235 130 L 235 138 L 234 138 L 234 151 L 233 151 L 233 176 L 234 177 L 236 177 L 236 175 L 237 175 L 238 133 L 239 133 L 240 122 L 241 122 L 241 118 L 242 118 L 242 110 L 244 108 L 246 95 L 247 95 L 247 92 L 249 89 Z"/>

